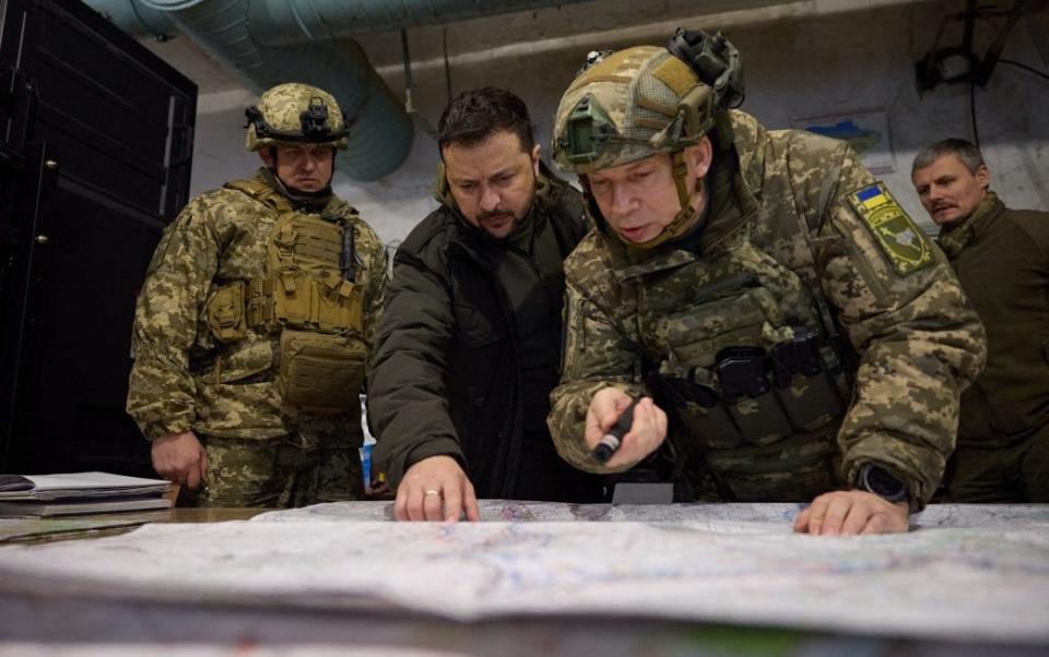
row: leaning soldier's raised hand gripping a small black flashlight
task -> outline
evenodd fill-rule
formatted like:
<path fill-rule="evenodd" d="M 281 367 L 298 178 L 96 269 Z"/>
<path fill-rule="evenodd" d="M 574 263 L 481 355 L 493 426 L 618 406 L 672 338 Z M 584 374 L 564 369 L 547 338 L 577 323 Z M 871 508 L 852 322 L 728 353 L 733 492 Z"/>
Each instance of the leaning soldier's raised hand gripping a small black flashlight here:
<path fill-rule="evenodd" d="M 587 409 L 584 435 L 589 449 L 593 450 L 632 401 L 629 395 L 617 387 L 604 387 L 593 395 Z M 665 438 L 667 414 L 656 406 L 651 397 L 641 397 L 634 407 L 634 423 L 630 425 L 630 430 L 604 465 L 613 470 L 624 470 L 655 452 Z"/>

